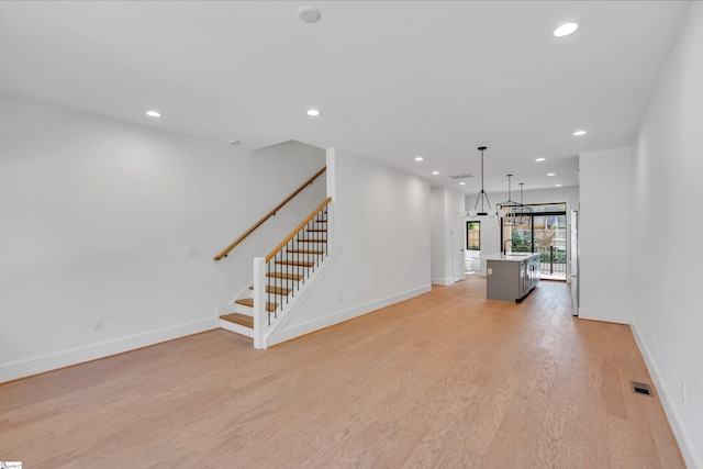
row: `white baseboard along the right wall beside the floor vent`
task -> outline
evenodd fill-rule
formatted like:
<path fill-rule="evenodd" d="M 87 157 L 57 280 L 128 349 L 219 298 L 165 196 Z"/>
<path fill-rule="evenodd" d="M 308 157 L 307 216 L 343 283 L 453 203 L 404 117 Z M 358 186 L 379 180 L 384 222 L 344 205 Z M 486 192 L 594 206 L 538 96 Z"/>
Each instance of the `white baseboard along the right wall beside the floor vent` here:
<path fill-rule="evenodd" d="M 690 468 L 700 468 L 703 469 L 703 460 L 701 456 L 695 450 L 695 446 L 693 445 L 693 440 L 689 435 L 689 432 L 683 424 L 683 420 L 681 418 L 681 414 L 677 410 L 673 404 L 673 399 L 671 392 L 667 388 L 667 384 L 659 372 L 659 367 L 657 367 L 657 362 L 654 360 L 651 353 L 649 351 L 649 347 L 647 347 L 647 342 L 641 335 L 639 327 L 637 326 L 637 321 L 633 317 L 631 328 L 633 330 L 633 335 L 635 336 L 635 343 L 637 344 L 637 348 L 639 348 L 639 353 L 645 358 L 645 365 L 649 370 L 649 375 L 651 379 L 655 381 L 655 388 L 661 398 L 661 403 L 663 405 L 663 411 L 667 414 L 667 418 L 669 420 L 669 425 L 671 425 L 671 429 L 673 431 L 673 435 L 677 438 L 677 443 L 679 443 L 679 448 L 681 448 L 681 454 L 685 464 Z"/>

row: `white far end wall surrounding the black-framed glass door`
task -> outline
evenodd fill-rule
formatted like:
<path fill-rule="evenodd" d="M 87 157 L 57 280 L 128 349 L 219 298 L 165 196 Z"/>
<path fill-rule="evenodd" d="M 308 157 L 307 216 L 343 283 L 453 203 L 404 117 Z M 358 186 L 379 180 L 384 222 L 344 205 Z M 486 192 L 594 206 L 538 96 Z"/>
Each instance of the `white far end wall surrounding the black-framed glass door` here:
<path fill-rule="evenodd" d="M 535 190 L 525 190 L 523 191 L 523 203 L 525 204 L 542 204 L 542 203 L 560 203 L 566 202 L 567 204 L 567 220 L 569 219 L 569 213 L 571 210 L 579 209 L 579 188 L 578 187 L 567 187 L 567 188 L 554 188 L 554 189 L 535 189 Z M 476 203 L 477 194 L 466 196 L 466 206 L 473 206 Z M 504 202 L 507 200 L 507 192 L 496 192 L 490 193 L 489 197 L 491 201 L 495 200 L 496 202 Z M 512 199 L 520 200 L 520 192 L 517 192 L 517 198 L 515 193 L 512 194 Z M 493 210 L 495 206 L 493 206 Z M 487 216 L 468 219 L 468 220 L 478 220 L 481 222 L 481 256 L 496 254 L 502 250 L 501 248 L 501 230 L 499 225 L 498 219 L 489 219 Z M 568 221 L 570 223 L 570 221 Z M 567 236 L 567 249 L 570 253 L 570 239 Z M 569 268 L 569 264 L 567 263 L 567 268 Z M 567 272 L 567 278 L 568 278 Z M 486 259 L 481 260 L 481 275 L 486 276 Z"/>

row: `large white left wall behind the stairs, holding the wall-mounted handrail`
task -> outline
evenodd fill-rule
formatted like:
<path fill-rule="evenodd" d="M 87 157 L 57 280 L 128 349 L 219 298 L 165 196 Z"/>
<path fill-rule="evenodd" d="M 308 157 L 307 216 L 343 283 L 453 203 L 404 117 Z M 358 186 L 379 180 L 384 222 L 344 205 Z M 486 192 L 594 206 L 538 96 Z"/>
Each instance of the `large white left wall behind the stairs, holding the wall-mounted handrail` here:
<path fill-rule="evenodd" d="M 0 110 L 0 381 L 216 327 L 252 258 L 325 197 L 323 177 L 215 263 L 324 150 L 249 155 L 9 94 Z"/>

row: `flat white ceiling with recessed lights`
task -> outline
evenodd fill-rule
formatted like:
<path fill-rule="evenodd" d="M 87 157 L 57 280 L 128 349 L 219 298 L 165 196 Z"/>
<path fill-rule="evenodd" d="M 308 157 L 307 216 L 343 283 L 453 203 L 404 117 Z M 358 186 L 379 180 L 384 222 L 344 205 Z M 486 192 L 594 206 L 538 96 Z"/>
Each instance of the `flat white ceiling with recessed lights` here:
<path fill-rule="evenodd" d="M 299 20 L 306 4 L 319 23 Z M 687 9 L 1 1 L 0 88 L 246 149 L 288 139 L 343 148 L 469 193 L 479 177 L 460 187 L 447 176 L 480 175 L 479 145 L 489 192 L 505 191 L 509 172 L 525 190 L 576 186 L 579 153 L 632 143 Z M 582 27 L 554 37 L 566 20 Z M 588 134 L 572 136 L 579 129 Z"/>

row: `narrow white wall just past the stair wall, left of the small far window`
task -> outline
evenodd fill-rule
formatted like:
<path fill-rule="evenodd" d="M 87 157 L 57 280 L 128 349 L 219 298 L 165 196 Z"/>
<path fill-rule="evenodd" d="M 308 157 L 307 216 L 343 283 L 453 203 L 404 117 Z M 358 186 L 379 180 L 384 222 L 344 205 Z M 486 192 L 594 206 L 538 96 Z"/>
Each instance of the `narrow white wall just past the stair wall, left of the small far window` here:
<path fill-rule="evenodd" d="M 443 186 L 434 186 L 429 192 L 432 283 L 447 286 L 454 283 L 454 220 L 466 217 L 464 193 Z"/>

